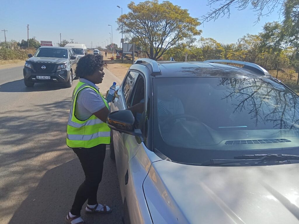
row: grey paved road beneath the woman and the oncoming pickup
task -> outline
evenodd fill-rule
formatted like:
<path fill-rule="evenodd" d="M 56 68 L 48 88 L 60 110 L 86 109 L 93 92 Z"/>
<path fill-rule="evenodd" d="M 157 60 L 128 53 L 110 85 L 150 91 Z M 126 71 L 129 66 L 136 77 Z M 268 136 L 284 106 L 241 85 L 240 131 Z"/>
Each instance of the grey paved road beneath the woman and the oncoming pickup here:
<path fill-rule="evenodd" d="M 36 84 L 26 88 L 23 67 L 0 70 L 0 223 L 64 223 L 84 179 L 80 162 L 65 145 L 72 88 Z M 113 81 L 105 70 L 100 90 Z M 122 203 L 115 163 L 107 146 L 98 201 L 111 214 L 82 217 L 91 223 L 121 223 Z"/>

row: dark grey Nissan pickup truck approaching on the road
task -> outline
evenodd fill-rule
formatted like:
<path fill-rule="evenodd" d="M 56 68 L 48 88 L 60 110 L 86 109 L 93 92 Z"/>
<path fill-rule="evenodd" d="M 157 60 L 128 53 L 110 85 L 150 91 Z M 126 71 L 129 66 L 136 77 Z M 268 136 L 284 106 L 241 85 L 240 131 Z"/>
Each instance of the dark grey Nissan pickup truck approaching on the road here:
<path fill-rule="evenodd" d="M 23 69 L 24 82 L 33 87 L 36 82 L 57 82 L 71 87 L 76 79 L 78 57 L 71 47 L 39 47 L 34 55 L 28 54 Z"/>

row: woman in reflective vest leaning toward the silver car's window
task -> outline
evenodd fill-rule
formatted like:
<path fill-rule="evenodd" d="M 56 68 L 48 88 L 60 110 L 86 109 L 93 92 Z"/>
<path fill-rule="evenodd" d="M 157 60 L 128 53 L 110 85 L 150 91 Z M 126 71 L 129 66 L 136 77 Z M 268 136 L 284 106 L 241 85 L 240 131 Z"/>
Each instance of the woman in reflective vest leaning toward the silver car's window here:
<path fill-rule="evenodd" d="M 77 154 L 85 180 L 78 188 L 71 211 L 66 217 L 71 224 L 85 223 L 80 217 L 80 211 L 86 200 L 86 213 L 112 211 L 109 206 L 97 203 L 106 145 L 110 144 L 110 128 L 106 124 L 109 105 L 95 85 L 103 81 L 103 64 L 103 56 L 91 54 L 82 57 L 77 64 L 76 75 L 80 77 L 80 82 L 73 92 L 66 143 Z M 142 111 L 143 104 L 134 105 L 129 110 L 133 113 Z"/>

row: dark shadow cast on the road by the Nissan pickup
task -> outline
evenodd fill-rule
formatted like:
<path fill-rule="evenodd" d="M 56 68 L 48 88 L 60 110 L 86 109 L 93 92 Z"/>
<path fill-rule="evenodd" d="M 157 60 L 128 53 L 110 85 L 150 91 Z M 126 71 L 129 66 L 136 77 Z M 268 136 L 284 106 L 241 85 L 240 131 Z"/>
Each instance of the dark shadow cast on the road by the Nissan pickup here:
<path fill-rule="evenodd" d="M 0 92 L 40 92 L 65 88 L 58 83 L 35 83 L 33 87 L 26 87 L 24 79 L 7 82 L 0 85 Z"/>

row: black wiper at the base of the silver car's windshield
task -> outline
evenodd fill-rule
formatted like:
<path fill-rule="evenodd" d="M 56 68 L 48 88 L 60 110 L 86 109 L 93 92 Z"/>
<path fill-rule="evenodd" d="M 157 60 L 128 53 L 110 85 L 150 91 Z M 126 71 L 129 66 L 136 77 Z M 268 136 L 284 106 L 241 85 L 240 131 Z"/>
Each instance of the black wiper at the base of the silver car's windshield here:
<path fill-rule="evenodd" d="M 290 161 L 296 160 L 296 161 Z M 236 156 L 234 159 L 210 159 L 208 161 L 203 162 L 202 166 L 210 166 L 210 165 L 241 165 L 241 164 L 258 164 L 263 161 L 272 161 L 278 164 L 288 164 L 288 163 L 298 163 L 299 156 L 298 155 L 288 155 L 288 154 L 255 154 L 255 155 L 242 155 Z"/>

